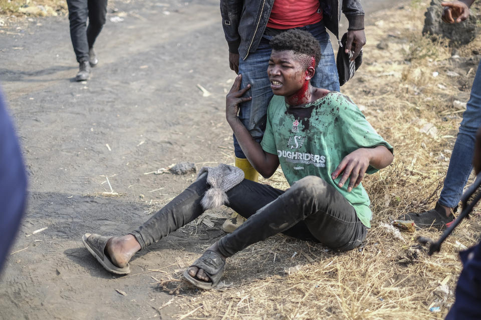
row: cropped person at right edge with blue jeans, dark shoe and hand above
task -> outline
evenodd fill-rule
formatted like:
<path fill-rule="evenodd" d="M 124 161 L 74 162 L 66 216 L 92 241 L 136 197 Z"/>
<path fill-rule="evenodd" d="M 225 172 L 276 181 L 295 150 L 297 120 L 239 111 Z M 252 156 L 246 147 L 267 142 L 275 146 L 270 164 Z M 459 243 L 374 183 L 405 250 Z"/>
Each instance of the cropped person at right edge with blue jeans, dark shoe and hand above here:
<path fill-rule="evenodd" d="M 441 18 L 446 23 L 458 23 L 469 16 L 469 7 L 474 0 L 441 2 L 444 6 Z M 424 212 L 410 212 L 398 219 L 413 220 L 419 227 L 449 226 L 454 220 L 462 190 L 472 170 L 472 156 L 477 128 L 481 127 L 481 62 L 472 83 L 471 95 L 462 114 L 459 133 L 452 149 L 444 185 L 433 209 Z"/>

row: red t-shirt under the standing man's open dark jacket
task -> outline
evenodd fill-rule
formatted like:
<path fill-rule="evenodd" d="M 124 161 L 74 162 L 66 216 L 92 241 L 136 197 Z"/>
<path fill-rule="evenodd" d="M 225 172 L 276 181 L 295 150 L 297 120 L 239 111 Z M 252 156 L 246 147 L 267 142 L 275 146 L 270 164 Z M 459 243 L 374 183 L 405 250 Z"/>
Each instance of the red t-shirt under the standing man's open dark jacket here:
<path fill-rule="evenodd" d="M 318 12 L 319 10 L 319 12 Z M 267 26 L 290 29 L 322 20 L 319 0 L 275 0 Z"/>

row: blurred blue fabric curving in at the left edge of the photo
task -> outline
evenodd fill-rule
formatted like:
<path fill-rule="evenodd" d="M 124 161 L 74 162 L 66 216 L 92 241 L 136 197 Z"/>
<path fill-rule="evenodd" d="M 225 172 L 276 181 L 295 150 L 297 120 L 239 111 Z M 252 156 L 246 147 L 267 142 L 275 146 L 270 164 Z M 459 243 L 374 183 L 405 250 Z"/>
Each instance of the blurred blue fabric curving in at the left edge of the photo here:
<path fill-rule="evenodd" d="M 26 196 L 24 161 L 0 92 L 0 270 L 19 228 Z"/>

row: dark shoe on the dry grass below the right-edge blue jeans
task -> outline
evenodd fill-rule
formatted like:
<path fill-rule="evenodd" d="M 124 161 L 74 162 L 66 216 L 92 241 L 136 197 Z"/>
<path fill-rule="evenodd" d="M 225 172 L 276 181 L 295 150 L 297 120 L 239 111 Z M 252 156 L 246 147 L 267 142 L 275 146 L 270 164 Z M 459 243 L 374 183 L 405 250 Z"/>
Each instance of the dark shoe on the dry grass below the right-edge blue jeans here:
<path fill-rule="evenodd" d="M 454 212 L 457 210 L 457 206 L 452 209 Z M 454 215 L 452 213 L 446 216 L 444 207 L 438 202 L 434 209 L 424 212 L 409 212 L 403 214 L 397 218 L 398 220 L 413 220 L 414 223 L 420 228 L 434 227 L 442 230 L 446 226 L 449 226 L 454 221 Z"/>

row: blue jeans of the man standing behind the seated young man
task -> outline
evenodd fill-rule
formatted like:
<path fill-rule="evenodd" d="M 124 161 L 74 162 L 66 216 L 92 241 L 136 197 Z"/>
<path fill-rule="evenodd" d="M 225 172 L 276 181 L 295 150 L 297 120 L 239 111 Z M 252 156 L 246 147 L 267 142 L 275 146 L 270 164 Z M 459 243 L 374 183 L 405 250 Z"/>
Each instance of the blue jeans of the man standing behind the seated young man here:
<path fill-rule="evenodd" d="M 339 91 L 339 75 L 336 61 L 332 50 L 329 34 L 324 23 L 318 22 L 299 27 L 298 29 L 311 32 L 321 45 L 322 58 L 316 68 L 316 73 L 311 79 L 311 84 L 318 88 Z M 264 35 L 255 52 L 249 53 L 244 60 L 239 60 L 239 73 L 242 74 L 241 87 L 251 84 L 251 89 L 245 96 L 252 96 L 252 100 L 240 105 L 239 119 L 244 123 L 256 141 L 261 142 L 266 130 L 267 107 L 274 93 L 271 89 L 271 81 L 267 75 L 269 58 L 271 57 L 271 36 Z M 240 149 L 240 145 L 234 135 L 234 152 L 239 158 L 246 158 Z"/>

